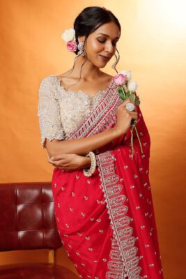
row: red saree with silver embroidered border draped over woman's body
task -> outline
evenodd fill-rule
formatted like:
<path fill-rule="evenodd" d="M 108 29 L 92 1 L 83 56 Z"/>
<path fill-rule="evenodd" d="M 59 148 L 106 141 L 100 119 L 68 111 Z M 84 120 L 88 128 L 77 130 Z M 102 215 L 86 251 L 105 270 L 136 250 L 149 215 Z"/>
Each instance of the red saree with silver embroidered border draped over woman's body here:
<path fill-rule="evenodd" d="M 100 104 L 67 140 L 90 137 L 116 124 L 123 101 L 113 82 Z M 56 223 L 68 257 L 80 278 L 162 279 L 162 263 L 149 181 L 150 136 L 137 106 L 133 130 L 95 149 L 92 176 L 82 169 L 54 168 L 52 190 Z"/>

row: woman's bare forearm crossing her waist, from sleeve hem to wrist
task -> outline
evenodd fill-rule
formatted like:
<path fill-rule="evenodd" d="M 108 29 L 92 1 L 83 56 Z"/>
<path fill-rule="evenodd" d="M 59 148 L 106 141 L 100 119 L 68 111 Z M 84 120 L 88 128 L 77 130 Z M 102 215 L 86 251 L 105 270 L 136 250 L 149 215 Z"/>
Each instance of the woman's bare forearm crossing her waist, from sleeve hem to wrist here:
<path fill-rule="evenodd" d="M 61 153 L 75 153 L 80 156 L 86 155 L 89 151 L 99 149 L 109 144 L 120 136 L 116 128 L 104 130 L 101 133 L 91 137 L 85 137 L 77 140 L 49 140 L 46 141 L 46 148 L 49 156 L 56 156 Z"/>

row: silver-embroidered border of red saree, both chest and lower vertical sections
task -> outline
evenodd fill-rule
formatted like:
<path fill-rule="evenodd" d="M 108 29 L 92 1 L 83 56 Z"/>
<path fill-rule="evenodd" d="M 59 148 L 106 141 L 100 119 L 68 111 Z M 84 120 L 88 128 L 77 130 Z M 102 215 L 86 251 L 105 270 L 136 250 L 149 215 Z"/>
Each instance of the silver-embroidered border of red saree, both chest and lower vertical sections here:
<path fill-rule="evenodd" d="M 108 87 L 102 101 L 95 107 L 75 132 L 68 135 L 67 140 L 88 137 L 102 132 L 105 128 L 111 128 L 116 123 L 117 106 L 123 103 L 116 90 L 118 86 L 114 80 Z M 141 267 L 138 266 L 140 258 L 137 257 L 138 248 L 134 246 L 137 238 L 132 236 L 133 229 L 130 227 L 132 218 L 126 216 L 128 211 L 125 195 L 121 195 L 122 185 L 118 183 L 115 172 L 115 157 L 111 151 L 96 155 L 100 181 L 100 188 L 104 193 L 108 209 L 113 239 L 108 262 L 107 279 L 141 279 L 139 276 Z"/>

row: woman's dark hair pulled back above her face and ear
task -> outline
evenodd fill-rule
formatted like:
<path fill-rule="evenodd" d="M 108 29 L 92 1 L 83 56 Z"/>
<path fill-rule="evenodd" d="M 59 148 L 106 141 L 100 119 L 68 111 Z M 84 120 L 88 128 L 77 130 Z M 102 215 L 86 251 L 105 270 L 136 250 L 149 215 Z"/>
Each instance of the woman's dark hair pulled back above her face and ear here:
<path fill-rule="evenodd" d="M 86 7 L 81 13 L 75 18 L 74 29 L 75 29 L 75 39 L 77 44 L 79 36 L 85 36 L 85 42 L 88 35 L 93 33 L 96 29 L 105 23 L 114 22 L 118 26 L 121 32 L 121 24 L 119 23 L 117 17 L 104 7 L 91 6 Z M 76 50 L 77 54 L 79 50 Z"/>

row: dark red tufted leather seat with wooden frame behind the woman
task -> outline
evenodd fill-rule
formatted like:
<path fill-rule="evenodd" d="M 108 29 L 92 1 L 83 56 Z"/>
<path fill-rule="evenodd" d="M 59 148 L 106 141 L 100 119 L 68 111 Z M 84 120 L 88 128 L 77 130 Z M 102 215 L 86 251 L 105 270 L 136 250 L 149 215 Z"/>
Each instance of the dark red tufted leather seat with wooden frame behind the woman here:
<path fill-rule="evenodd" d="M 0 265 L 0 279 L 79 278 L 56 265 L 55 251 L 62 245 L 51 183 L 0 183 L 1 257 L 3 251 L 49 249 L 48 263 Z"/>

